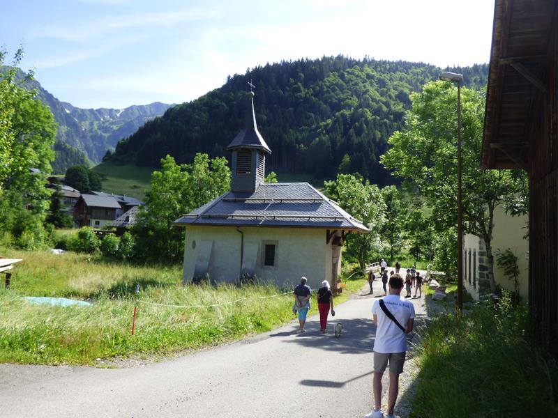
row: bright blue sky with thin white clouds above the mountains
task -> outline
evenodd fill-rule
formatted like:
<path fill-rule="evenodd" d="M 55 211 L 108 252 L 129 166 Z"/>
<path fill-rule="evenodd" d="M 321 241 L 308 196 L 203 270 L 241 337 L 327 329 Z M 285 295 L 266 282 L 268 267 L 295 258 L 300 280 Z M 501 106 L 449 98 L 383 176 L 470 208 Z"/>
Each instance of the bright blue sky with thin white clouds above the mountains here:
<path fill-rule="evenodd" d="M 494 1 L 6 0 L 0 45 L 77 107 L 193 100 L 267 62 L 488 62 Z M 10 59 L 6 60 L 9 63 Z"/>

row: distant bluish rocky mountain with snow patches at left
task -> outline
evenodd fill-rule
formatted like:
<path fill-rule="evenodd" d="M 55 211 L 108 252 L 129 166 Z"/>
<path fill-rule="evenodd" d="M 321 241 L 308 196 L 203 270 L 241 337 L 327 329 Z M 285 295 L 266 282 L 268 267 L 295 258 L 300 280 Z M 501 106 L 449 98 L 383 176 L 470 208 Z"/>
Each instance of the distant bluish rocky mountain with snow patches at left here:
<path fill-rule="evenodd" d="M 0 68 L 0 71 L 3 70 Z M 24 80 L 24 72 L 17 70 L 18 79 Z M 155 102 L 126 109 L 80 109 L 61 102 L 46 91 L 39 82 L 25 82 L 36 88 L 40 100 L 52 111 L 58 123 L 56 132 L 56 159 L 52 163 L 54 173 L 63 173 L 75 164 L 88 165 L 89 160 L 100 162 L 107 150 L 130 136 L 146 121 L 162 115 L 171 104 Z"/>

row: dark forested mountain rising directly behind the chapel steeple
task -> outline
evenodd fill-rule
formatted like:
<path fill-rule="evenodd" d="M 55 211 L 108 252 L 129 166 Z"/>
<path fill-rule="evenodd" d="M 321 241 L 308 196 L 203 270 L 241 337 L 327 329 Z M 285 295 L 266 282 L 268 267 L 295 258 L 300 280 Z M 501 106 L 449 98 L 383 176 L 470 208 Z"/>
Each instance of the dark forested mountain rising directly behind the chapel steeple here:
<path fill-rule="evenodd" d="M 464 84 L 484 87 L 488 65 L 449 68 Z M 179 104 L 120 141 L 112 160 L 158 167 L 165 155 L 192 162 L 195 153 L 227 156 L 249 109 L 247 83 L 255 84 L 259 131 L 271 147 L 268 169 L 333 178 L 359 172 L 391 183 L 379 164 L 386 141 L 401 129 L 409 93 L 438 79 L 440 68 L 405 61 L 345 56 L 259 66 L 193 102 Z M 346 155 L 346 156 L 345 156 Z"/>

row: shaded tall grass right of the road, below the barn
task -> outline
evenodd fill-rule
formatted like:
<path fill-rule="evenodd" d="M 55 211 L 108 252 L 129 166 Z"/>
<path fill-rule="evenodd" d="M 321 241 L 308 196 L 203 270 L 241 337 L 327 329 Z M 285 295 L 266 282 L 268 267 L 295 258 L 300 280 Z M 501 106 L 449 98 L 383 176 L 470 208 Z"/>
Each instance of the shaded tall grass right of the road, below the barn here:
<path fill-rule="evenodd" d="M 557 417 L 556 366 L 529 345 L 526 329 L 526 307 L 509 297 L 433 320 L 419 348 L 411 416 Z"/>

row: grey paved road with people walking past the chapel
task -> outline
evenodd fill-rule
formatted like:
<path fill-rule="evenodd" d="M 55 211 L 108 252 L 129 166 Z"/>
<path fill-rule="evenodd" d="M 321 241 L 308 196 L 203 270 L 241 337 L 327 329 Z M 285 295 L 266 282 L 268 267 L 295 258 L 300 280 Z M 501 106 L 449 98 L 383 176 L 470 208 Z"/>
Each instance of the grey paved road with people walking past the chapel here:
<path fill-rule="evenodd" d="M 320 334 L 316 316 L 304 334 L 291 323 L 133 369 L 2 364 L 0 417 L 362 417 L 372 405 L 373 300 L 356 295 L 335 309 L 340 339 L 331 322 Z"/>

